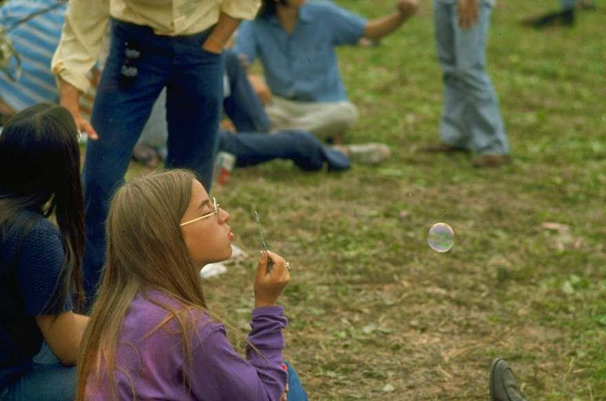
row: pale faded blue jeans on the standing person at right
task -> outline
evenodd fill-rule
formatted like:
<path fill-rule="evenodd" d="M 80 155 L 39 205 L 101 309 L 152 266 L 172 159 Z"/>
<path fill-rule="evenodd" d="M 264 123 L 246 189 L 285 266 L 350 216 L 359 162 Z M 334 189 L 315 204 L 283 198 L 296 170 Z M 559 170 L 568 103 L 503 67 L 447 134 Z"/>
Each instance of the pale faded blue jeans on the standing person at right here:
<path fill-rule="evenodd" d="M 437 56 L 444 92 L 442 142 L 477 153 L 508 154 L 497 93 L 486 74 L 486 39 L 492 7 L 479 4 L 479 20 L 462 30 L 457 4 L 434 0 Z"/>

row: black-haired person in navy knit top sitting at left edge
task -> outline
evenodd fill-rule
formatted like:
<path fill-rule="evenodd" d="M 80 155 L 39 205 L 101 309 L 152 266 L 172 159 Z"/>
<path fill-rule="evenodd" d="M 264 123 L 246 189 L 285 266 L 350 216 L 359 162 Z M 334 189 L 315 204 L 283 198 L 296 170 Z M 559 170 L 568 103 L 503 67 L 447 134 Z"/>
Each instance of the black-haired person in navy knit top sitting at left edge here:
<path fill-rule="evenodd" d="M 73 312 L 83 295 L 78 136 L 70 112 L 47 104 L 17 113 L 0 135 L 1 401 L 75 395 L 88 322 Z"/>

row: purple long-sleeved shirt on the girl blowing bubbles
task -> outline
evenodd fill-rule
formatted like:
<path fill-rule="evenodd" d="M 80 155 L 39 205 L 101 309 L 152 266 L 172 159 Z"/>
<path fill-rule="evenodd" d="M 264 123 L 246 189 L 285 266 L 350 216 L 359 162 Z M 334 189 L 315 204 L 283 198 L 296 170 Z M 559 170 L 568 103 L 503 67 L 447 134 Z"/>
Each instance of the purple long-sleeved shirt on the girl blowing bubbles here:
<path fill-rule="evenodd" d="M 176 310 L 183 308 L 163 292 L 149 291 L 147 295 Z M 244 359 L 231 347 L 222 324 L 204 310 L 187 312 L 191 318 L 187 330 L 192 352 L 190 375 L 178 323 L 174 318 L 163 323 L 168 312 L 137 294 L 125 315 L 116 349 L 118 399 L 133 399 L 132 380 L 137 400 L 280 400 L 288 380 L 282 369 L 283 313 L 280 306 L 253 310 L 248 339 L 263 356 L 248 345 Z M 129 373 L 130 380 L 121 369 Z M 89 400 L 108 400 L 107 382 L 100 389 L 89 382 L 87 394 Z"/>

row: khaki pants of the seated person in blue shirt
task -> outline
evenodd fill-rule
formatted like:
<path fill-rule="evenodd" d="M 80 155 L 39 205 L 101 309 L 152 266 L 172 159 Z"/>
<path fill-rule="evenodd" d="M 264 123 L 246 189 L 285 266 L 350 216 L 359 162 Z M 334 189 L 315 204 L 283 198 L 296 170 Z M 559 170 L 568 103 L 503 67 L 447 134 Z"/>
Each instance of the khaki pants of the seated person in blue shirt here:
<path fill-rule="evenodd" d="M 358 113 L 353 103 L 342 102 L 297 102 L 273 97 L 265 108 L 272 131 L 310 131 L 320 140 L 342 139 L 343 133 L 357 120 Z"/>

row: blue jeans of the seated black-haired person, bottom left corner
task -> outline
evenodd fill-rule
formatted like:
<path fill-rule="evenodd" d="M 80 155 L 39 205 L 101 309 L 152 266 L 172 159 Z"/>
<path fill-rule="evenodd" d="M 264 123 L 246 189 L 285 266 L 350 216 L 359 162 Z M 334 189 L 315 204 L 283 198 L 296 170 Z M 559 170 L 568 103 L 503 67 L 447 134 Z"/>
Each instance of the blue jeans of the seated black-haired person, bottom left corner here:
<path fill-rule="evenodd" d="M 72 401 L 76 397 L 76 367 L 65 366 L 46 343 L 32 369 L 0 391 L 0 401 Z"/>

